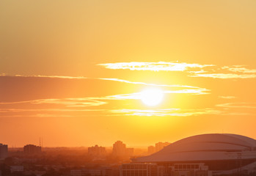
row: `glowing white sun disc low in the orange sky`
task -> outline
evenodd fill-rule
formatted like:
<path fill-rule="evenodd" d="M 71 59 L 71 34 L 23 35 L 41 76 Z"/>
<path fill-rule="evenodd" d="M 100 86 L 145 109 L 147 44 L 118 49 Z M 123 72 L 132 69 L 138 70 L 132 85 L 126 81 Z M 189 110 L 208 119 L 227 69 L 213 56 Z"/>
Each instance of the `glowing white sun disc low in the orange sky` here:
<path fill-rule="evenodd" d="M 145 89 L 141 92 L 141 100 L 147 106 L 156 106 L 164 98 L 164 92 L 158 88 Z"/>

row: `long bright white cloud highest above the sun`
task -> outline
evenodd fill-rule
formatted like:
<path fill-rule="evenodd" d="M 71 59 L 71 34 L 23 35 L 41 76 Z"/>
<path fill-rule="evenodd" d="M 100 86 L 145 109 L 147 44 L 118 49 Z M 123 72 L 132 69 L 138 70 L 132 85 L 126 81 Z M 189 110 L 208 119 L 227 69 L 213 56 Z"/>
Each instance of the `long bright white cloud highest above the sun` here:
<path fill-rule="evenodd" d="M 188 64 L 178 62 L 117 62 L 99 64 L 109 69 L 128 69 L 128 70 L 150 70 L 150 71 L 184 71 L 188 68 L 202 68 L 213 65 Z"/>

